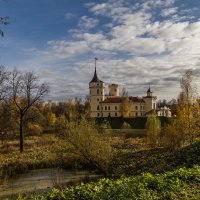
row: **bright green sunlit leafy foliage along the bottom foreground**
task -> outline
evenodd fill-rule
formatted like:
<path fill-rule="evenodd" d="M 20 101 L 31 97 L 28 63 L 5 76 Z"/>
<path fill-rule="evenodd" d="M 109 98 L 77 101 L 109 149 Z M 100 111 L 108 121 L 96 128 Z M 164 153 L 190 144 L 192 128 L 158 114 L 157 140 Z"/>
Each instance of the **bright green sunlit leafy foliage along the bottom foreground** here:
<path fill-rule="evenodd" d="M 186 199 L 193 195 L 189 186 L 200 184 L 200 167 L 180 168 L 161 175 L 150 173 L 117 180 L 101 179 L 97 183 L 82 184 L 64 190 L 53 189 L 40 196 L 20 197 L 18 200 L 124 200 L 124 199 Z M 196 190 L 196 196 L 200 189 Z"/>

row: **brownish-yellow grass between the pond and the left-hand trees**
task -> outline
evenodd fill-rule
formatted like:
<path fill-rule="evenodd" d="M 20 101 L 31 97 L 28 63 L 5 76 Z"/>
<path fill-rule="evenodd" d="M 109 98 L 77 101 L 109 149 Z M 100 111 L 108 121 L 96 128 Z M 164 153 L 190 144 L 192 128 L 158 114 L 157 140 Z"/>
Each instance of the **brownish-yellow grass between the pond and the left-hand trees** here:
<path fill-rule="evenodd" d="M 84 165 L 72 146 L 55 135 L 29 137 L 25 141 L 24 153 L 19 153 L 15 140 L 0 146 L 0 183 L 31 169 L 72 169 Z"/>

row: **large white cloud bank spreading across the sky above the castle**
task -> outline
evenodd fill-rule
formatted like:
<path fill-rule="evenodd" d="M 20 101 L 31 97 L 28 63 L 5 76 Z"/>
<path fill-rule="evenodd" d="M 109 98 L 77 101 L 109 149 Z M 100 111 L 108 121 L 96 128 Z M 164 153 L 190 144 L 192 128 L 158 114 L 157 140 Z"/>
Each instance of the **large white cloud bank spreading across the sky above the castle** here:
<path fill-rule="evenodd" d="M 70 90 L 59 90 L 64 91 L 62 96 L 87 95 L 93 58 L 98 57 L 98 73 L 103 81 L 127 86 L 133 95 L 144 95 L 151 82 L 157 95 L 176 97 L 181 72 L 199 68 L 200 21 L 191 22 L 191 13 L 179 16 L 181 7 L 173 7 L 174 2 L 143 0 L 127 4 L 109 0 L 86 4 L 95 18 L 82 16 L 69 32 L 73 39 L 52 40 L 45 49 L 31 51 L 46 69 L 57 70 L 53 64 L 48 66 L 50 61 L 64 68 L 64 72 L 56 71 L 60 80 L 54 84 L 54 88 L 70 85 Z M 155 18 L 154 8 L 160 8 L 166 18 Z M 100 23 L 102 16 L 107 19 L 104 24 Z M 107 31 L 97 25 L 106 26 Z"/>

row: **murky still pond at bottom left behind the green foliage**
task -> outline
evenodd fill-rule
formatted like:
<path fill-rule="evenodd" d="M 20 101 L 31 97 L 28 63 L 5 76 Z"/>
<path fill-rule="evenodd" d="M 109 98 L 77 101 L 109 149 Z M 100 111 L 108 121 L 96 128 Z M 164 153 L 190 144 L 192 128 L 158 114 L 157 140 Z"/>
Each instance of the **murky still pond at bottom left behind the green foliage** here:
<path fill-rule="evenodd" d="M 9 198 L 22 193 L 42 193 L 55 186 L 75 184 L 84 179 L 93 180 L 100 177 L 88 171 L 70 171 L 63 169 L 39 169 L 31 170 L 26 174 L 20 174 L 15 179 L 9 179 L 0 185 L 0 199 Z"/>

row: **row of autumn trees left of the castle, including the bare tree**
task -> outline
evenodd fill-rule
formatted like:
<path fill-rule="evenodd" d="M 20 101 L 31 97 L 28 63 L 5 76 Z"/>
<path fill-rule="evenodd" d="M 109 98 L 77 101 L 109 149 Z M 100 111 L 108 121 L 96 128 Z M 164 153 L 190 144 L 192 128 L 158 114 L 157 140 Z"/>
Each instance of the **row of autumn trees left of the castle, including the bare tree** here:
<path fill-rule="evenodd" d="M 0 139 L 19 137 L 21 152 L 25 135 L 55 132 L 87 115 L 88 102 L 81 99 L 44 102 L 49 86 L 40 82 L 33 72 L 0 67 Z"/>

